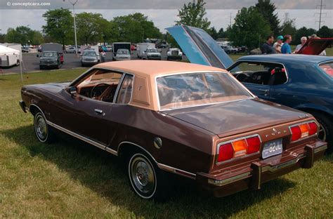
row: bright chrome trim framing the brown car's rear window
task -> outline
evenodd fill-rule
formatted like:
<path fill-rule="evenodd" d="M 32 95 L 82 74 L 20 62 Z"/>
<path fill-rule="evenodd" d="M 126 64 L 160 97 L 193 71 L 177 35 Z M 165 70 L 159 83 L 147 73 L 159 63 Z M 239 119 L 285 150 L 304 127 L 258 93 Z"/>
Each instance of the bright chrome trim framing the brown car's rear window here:
<path fill-rule="evenodd" d="M 238 100 L 249 100 L 253 98 L 257 98 L 256 95 L 254 95 L 249 89 L 247 89 L 244 84 L 242 84 L 240 81 L 238 81 L 235 77 L 233 77 L 230 72 L 224 72 L 224 71 L 191 71 L 191 72 L 177 72 L 177 73 L 170 73 L 170 74 L 162 74 L 162 75 L 157 75 L 155 76 L 155 92 L 156 92 L 156 97 L 157 97 L 157 107 L 158 111 L 168 111 L 168 110 L 178 110 L 178 109 L 185 109 L 185 108 L 190 108 L 190 107 L 200 107 L 200 106 L 205 106 L 205 105 L 215 105 L 219 103 L 224 103 L 224 102 L 234 102 L 238 100 L 230 100 L 230 101 L 223 101 L 223 102 L 211 102 L 211 103 L 205 103 L 205 104 L 200 104 L 200 105 L 191 105 L 191 106 L 184 106 L 184 107 L 175 107 L 175 108 L 169 108 L 169 109 L 164 109 L 161 110 L 161 105 L 159 103 L 159 93 L 158 93 L 158 88 L 157 88 L 157 79 L 160 77 L 168 77 L 172 75 L 178 75 L 178 74 L 196 74 L 196 73 L 223 73 L 223 74 L 228 74 L 230 76 L 230 79 L 233 79 L 237 84 L 239 84 L 247 93 L 249 93 L 249 98 L 242 98 Z"/>

